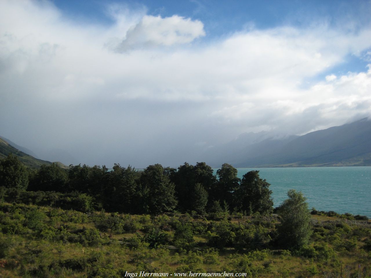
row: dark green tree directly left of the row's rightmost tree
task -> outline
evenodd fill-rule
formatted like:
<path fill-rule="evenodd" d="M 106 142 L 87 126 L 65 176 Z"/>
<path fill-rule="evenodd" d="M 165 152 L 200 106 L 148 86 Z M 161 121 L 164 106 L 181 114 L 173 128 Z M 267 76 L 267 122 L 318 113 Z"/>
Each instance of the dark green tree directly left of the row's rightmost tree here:
<path fill-rule="evenodd" d="M 233 193 L 239 187 L 241 181 L 240 178 L 237 178 L 237 169 L 228 163 L 224 163 L 221 168 L 216 171 L 216 174 L 219 177 L 216 199 L 220 202 L 227 202 L 227 204 L 233 208 L 235 206 L 233 202 Z"/>

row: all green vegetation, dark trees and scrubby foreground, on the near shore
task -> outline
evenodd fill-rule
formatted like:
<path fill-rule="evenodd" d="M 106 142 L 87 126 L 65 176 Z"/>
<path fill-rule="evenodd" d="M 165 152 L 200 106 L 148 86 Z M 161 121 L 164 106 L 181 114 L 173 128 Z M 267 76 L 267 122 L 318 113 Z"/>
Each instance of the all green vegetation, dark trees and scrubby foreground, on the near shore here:
<path fill-rule="evenodd" d="M 0 175 L 23 175 L 14 157 L 0 163 L 10 165 Z M 365 216 L 309 212 L 294 190 L 272 215 L 269 183 L 258 171 L 239 180 L 231 165 L 217 176 L 210 169 L 52 164 L 26 171 L 29 191 L 2 183 L 0 277 L 370 277 Z"/>

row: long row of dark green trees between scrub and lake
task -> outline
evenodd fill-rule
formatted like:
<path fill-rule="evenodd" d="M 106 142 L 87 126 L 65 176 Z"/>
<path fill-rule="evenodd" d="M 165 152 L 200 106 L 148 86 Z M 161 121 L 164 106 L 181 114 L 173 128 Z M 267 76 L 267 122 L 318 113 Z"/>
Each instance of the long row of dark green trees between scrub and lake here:
<path fill-rule="evenodd" d="M 119 164 L 106 166 L 56 163 L 27 169 L 16 156 L 0 161 L 0 186 L 27 191 L 80 192 L 92 196 L 96 207 L 129 214 L 158 215 L 164 212 L 242 212 L 271 214 L 270 184 L 259 171 L 237 177 L 237 169 L 224 163 L 214 175 L 205 162 L 184 163 L 177 169 L 150 165 L 143 171 Z"/>

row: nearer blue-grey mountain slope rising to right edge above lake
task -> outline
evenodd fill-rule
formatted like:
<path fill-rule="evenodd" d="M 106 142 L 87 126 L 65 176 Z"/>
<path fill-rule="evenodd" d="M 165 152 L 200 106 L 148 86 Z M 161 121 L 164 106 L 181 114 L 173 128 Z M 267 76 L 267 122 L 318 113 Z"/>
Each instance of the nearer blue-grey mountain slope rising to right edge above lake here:
<path fill-rule="evenodd" d="M 252 161 L 236 160 L 237 167 L 251 166 L 368 166 L 371 165 L 371 121 L 366 118 L 342 126 L 317 130 L 286 143 Z"/>

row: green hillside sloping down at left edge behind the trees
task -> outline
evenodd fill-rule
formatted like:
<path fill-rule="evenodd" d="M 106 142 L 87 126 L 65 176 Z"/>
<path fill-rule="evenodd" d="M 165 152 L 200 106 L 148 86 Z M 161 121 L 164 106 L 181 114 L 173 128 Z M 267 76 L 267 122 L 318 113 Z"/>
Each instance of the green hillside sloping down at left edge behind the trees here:
<path fill-rule="evenodd" d="M 22 148 L 22 149 L 25 149 L 25 148 Z M 0 158 L 6 158 L 9 155 L 9 153 L 12 153 L 13 155 L 17 156 L 18 159 L 29 168 L 37 169 L 37 168 L 40 168 L 40 166 L 43 164 L 46 164 L 46 165 L 52 164 L 52 162 L 50 161 L 37 159 L 31 155 L 28 155 L 25 152 L 22 152 L 21 150 L 10 145 L 10 143 L 4 140 L 3 137 L 0 137 Z M 56 163 L 62 168 L 67 168 L 66 165 L 60 162 L 56 162 Z"/>

